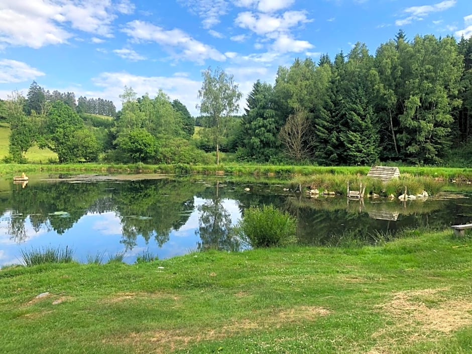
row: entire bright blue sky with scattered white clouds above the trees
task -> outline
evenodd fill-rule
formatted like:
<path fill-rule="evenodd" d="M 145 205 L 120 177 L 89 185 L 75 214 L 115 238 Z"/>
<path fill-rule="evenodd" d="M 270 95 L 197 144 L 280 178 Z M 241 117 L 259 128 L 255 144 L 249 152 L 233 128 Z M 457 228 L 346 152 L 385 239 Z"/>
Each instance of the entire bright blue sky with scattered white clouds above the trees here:
<path fill-rule="evenodd" d="M 111 99 L 163 89 L 197 114 L 201 71 L 222 67 L 246 94 L 279 65 L 371 53 L 407 37 L 472 35 L 471 0 L 0 0 L 0 98 L 46 89 Z M 245 101 L 241 102 L 244 106 Z"/>

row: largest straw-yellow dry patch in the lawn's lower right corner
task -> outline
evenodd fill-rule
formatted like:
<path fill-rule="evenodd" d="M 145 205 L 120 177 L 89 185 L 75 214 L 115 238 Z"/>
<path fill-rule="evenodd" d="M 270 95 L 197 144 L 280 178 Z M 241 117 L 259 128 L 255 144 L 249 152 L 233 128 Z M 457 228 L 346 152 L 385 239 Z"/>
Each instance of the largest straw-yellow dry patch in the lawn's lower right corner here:
<path fill-rule="evenodd" d="M 377 346 L 367 354 L 401 351 L 401 346 L 438 337 L 472 324 L 472 301 L 447 298 L 448 288 L 401 291 L 378 308 L 387 313 L 393 323 L 374 333 Z M 396 348 L 396 349 L 395 349 Z"/>

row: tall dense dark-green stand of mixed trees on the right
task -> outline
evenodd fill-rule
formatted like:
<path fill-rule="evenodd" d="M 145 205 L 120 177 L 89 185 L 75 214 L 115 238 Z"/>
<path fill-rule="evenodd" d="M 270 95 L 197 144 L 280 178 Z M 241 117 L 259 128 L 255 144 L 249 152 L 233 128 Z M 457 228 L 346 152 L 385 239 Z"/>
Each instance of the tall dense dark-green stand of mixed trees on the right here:
<path fill-rule="evenodd" d="M 443 163 L 471 136 L 472 39 L 400 31 L 371 55 L 357 43 L 334 60 L 296 59 L 247 99 L 241 159 L 365 165 Z"/>

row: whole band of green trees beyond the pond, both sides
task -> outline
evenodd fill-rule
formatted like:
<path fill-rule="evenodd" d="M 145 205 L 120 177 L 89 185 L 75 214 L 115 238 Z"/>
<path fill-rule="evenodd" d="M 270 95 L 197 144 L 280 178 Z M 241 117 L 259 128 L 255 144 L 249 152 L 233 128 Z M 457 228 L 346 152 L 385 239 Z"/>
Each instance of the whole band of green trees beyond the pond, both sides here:
<path fill-rule="evenodd" d="M 34 144 L 56 152 L 59 162 L 211 163 L 216 148 L 246 162 L 448 164 L 453 156 L 465 165 L 470 160 L 471 38 L 408 40 L 399 31 L 375 55 L 357 43 L 333 59 L 296 59 L 279 68 L 273 85 L 254 83 L 242 116 L 234 115 L 241 94 L 232 76 L 218 69 L 214 77 L 210 69 L 206 74 L 198 93 L 202 115 L 196 118 L 161 90 L 150 98 L 125 87 L 116 112 L 111 101 L 76 101 L 73 92 L 51 93 L 33 82 L 26 97 L 14 92 L 0 102 L 0 118 L 11 127 L 6 160 L 25 162 Z M 205 98 L 230 89 L 222 101 Z M 198 134 L 195 126 L 203 127 Z"/>

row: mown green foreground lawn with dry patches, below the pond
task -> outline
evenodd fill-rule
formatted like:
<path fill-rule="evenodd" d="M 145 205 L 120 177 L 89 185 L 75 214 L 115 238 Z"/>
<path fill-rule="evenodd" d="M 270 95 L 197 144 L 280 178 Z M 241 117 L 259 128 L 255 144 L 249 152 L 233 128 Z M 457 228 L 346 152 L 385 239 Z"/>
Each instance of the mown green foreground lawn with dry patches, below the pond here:
<path fill-rule="evenodd" d="M 3 353 L 470 353 L 470 239 L 0 271 Z M 40 293 L 49 295 L 36 298 Z"/>

